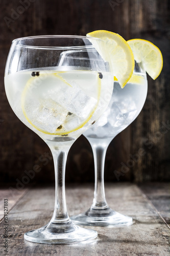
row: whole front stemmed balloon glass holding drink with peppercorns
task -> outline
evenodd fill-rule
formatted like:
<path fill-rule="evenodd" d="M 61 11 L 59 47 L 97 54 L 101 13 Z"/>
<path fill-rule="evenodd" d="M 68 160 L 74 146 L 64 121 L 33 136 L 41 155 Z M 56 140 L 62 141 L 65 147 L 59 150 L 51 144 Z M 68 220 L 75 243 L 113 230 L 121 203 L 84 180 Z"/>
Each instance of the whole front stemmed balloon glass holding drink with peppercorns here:
<path fill-rule="evenodd" d="M 94 41 L 105 47 L 102 40 L 84 36 L 33 36 L 12 42 L 5 70 L 7 98 L 17 117 L 50 147 L 55 166 L 54 214 L 47 225 L 25 233 L 31 242 L 67 244 L 97 236 L 70 220 L 64 185 L 69 148 L 102 115 L 113 91 L 109 65 Z M 70 58 L 62 66 L 66 51 Z"/>

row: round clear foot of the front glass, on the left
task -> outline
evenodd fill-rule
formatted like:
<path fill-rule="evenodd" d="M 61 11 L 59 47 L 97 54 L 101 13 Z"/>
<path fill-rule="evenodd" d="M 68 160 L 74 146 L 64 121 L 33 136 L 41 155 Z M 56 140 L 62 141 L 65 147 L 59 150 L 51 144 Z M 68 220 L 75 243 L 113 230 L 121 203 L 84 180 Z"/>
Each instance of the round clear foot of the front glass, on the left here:
<path fill-rule="evenodd" d="M 26 232 L 24 238 L 34 243 L 70 244 L 89 242 L 97 236 L 98 233 L 95 230 L 82 228 L 69 222 L 67 224 L 49 223 L 39 229 Z"/>

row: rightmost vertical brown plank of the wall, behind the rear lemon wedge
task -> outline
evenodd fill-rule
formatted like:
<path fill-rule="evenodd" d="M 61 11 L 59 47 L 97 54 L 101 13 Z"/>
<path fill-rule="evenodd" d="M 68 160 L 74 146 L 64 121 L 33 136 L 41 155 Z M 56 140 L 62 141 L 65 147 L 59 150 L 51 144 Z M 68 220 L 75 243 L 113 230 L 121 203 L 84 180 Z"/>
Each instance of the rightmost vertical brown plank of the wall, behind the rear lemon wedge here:
<path fill-rule="evenodd" d="M 131 38 L 142 38 L 153 42 L 160 48 L 164 66 L 161 75 L 152 80 L 148 76 L 148 96 L 144 107 L 131 126 L 131 152 L 136 154 L 142 148 L 145 155 L 140 157 L 133 166 L 133 180 L 166 181 L 169 178 L 168 144 L 169 127 L 163 123 L 169 122 L 169 92 L 165 87 L 170 78 L 167 66 L 169 60 L 169 46 L 165 46 L 168 39 L 163 35 L 169 27 L 166 18 L 169 16 L 168 1 L 130 1 L 131 2 Z M 159 17 L 162 17 L 162 25 Z M 164 18 L 163 18 L 164 17 Z M 168 43 L 169 44 L 169 43 Z M 165 93 L 167 92 L 167 94 Z M 162 129 L 163 127 L 163 129 Z M 163 133 L 162 131 L 166 131 Z"/>

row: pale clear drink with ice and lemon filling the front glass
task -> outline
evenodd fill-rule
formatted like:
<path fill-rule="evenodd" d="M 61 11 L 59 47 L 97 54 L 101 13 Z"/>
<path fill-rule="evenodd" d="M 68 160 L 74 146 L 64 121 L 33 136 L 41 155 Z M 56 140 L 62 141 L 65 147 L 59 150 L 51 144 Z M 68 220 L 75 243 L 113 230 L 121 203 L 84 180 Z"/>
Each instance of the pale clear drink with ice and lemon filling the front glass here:
<path fill-rule="evenodd" d="M 106 109 L 113 80 L 108 72 L 27 70 L 7 75 L 5 88 L 17 117 L 41 137 L 77 137 Z"/>

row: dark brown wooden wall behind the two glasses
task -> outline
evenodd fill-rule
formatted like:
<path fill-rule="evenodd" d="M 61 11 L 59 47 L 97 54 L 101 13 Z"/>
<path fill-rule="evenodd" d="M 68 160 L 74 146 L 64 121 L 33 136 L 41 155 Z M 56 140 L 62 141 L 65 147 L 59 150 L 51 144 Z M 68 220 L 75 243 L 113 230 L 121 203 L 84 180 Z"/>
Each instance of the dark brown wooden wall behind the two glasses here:
<path fill-rule="evenodd" d="M 25 170 L 33 169 L 35 164 L 41 167 L 41 172 L 36 173 L 30 182 L 54 181 L 53 160 L 48 157 L 50 150 L 36 134 L 20 122 L 6 98 L 4 69 L 12 39 L 45 34 L 86 35 L 100 29 L 116 32 L 126 40 L 150 40 L 160 48 L 164 59 L 161 75 L 155 81 L 148 77 L 148 97 L 140 115 L 116 136 L 108 148 L 105 180 L 169 180 L 170 1 L 0 0 L 0 8 L 1 182 L 16 184 L 26 176 Z M 137 158 L 140 148 L 144 155 L 132 160 L 135 156 Z M 127 166 L 126 174 L 121 170 L 122 162 Z M 91 147 L 81 136 L 69 152 L 66 181 L 93 180 Z"/>

